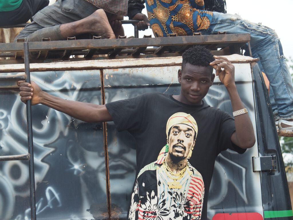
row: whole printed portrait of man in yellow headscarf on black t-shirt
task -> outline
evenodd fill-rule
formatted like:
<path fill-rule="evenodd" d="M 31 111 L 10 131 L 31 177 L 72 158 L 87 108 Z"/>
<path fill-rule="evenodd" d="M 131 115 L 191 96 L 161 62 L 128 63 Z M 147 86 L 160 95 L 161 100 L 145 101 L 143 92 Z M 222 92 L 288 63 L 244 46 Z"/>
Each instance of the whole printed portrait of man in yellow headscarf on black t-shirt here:
<path fill-rule="evenodd" d="M 168 119 L 166 145 L 158 159 L 137 176 L 129 219 L 201 218 L 205 187 L 202 175 L 188 162 L 197 133 L 197 123 L 190 114 L 177 112 Z"/>

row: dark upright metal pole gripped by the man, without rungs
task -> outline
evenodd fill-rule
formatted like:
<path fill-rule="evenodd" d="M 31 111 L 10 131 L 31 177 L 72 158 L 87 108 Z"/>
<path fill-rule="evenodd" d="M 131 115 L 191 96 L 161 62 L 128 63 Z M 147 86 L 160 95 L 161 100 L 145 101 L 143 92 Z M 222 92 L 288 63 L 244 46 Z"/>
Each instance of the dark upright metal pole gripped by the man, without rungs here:
<path fill-rule="evenodd" d="M 24 68 L 26 74 L 26 82 L 30 83 L 30 59 L 28 42 L 24 42 Z M 33 127 L 32 127 L 32 110 L 31 100 L 26 102 L 26 116 L 28 127 L 28 153 L 30 160 L 28 161 L 29 174 L 30 174 L 30 217 L 36 220 L 36 202 L 35 202 L 35 170 L 34 170 L 34 152 L 33 152 Z"/>

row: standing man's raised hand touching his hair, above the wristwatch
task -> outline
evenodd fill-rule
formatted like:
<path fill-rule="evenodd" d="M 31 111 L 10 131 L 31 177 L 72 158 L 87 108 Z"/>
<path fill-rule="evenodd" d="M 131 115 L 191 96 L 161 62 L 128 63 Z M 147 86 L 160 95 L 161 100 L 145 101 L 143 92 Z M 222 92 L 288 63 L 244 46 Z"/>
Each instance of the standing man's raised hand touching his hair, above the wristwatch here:
<path fill-rule="evenodd" d="M 219 76 L 220 81 L 226 88 L 235 87 L 234 65 L 226 58 L 214 56 L 216 60 L 211 62 L 211 65 L 216 70 L 216 76 Z"/>

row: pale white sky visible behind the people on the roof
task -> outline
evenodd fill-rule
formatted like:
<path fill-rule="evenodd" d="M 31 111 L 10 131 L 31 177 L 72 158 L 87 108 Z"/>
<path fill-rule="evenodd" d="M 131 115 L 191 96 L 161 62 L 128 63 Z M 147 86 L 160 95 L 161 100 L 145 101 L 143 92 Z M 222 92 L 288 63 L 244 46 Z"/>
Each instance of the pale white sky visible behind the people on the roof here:
<path fill-rule="evenodd" d="M 278 4 L 277 4 L 278 3 Z M 290 23 L 290 14 L 293 13 L 293 0 L 226 0 L 227 13 L 239 14 L 243 19 L 262 23 L 276 31 L 278 34 L 285 57 L 293 58 L 293 24 Z M 146 10 L 143 10 L 147 14 Z M 124 19 L 128 19 L 125 17 Z M 134 35 L 131 24 L 123 25 L 127 36 Z M 139 37 L 151 35 L 151 29 L 139 31 Z"/>

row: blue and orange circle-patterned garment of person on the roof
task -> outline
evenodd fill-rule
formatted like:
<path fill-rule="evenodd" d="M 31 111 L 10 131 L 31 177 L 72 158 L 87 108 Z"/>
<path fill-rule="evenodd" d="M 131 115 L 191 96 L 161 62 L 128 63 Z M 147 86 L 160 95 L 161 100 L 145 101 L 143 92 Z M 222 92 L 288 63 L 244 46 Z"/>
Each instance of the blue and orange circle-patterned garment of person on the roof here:
<path fill-rule="evenodd" d="M 146 0 L 147 15 L 155 37 L 193 35 L 208 29 L 213 13 L 203 0 Z"/>

